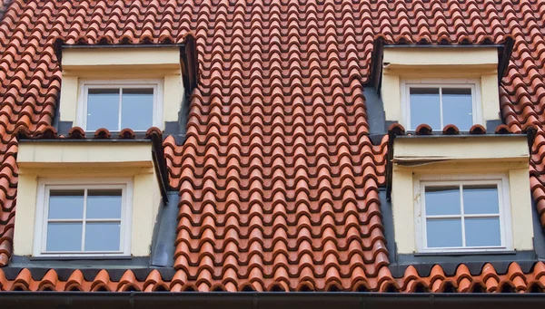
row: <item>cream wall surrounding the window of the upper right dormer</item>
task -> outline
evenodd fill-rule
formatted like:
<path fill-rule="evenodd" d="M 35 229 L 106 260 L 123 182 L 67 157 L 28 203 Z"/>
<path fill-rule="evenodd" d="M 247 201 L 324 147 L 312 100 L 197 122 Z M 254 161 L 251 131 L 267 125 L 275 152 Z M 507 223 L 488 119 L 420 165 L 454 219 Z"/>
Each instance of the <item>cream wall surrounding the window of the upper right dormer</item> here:
<path fill-rule="evenodd" d="M 498 51 L 495 47 L 385 47 L 381 97 L 386 121 L 406 126 L 403 82 L 475 82 L 478 123 L 500 120 Z M 493 128 L 492 128 L 493 129 Z"/>

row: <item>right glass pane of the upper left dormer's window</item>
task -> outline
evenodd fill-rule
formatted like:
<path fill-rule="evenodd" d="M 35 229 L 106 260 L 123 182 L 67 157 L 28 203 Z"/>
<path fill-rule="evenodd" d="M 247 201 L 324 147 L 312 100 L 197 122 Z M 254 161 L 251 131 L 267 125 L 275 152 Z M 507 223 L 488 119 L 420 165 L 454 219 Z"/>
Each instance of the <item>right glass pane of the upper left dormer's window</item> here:
<path fill-rule="evenodd" d="M 154 125 L 154 89 L 123 89 L 121 129 L 148 130 Z"/>

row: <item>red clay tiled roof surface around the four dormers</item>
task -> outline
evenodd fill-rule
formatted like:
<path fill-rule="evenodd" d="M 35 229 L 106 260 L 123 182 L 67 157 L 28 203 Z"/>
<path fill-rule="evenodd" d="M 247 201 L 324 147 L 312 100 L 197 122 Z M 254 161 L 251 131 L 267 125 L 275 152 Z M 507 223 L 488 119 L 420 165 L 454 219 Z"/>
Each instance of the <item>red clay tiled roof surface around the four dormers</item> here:
<path fill-rule="evenodd" d="M 181 196 L 174 256 L 181 285 L 199 291 L 353 290 L 362 282 L 383 291 L 391 282 L 413 291 L 423 282 L 441 291 L 441 272 L 421 278 L 409 268 L 406 278 L 381 281 L 390 278 L 378 198 L 387 137 L 372 145 L 362 90 L 373 42 L 514 37 L 500 106 L 510 131 L 538 127 L 530 179 L 545 225 L 543 15 L 541 1 L 15 0 L 0 22 L 0 266 L 12 254 L 15 132 L 45 130 L 59 97 L 54 41 L 182 43 L 193 34 L 199 84 L 187 140 L 183 146 L 173 137 L 163 143 L 170 184 Z M 475 282 L 490 292 L 504 285 L 522 291 L 542 286 L 545 278 L 542 264 L 526 275 L 520 269 L 495 275 L 489 268 L 471 275 L 464 267 L 452 278 L 461 291 Z M 104 281 L 74 274 L 84 290 Z M 127 274 L 126 282 L 134 282 Z M 20 276 L 33 290 L 56 280 L 53 271 L 53 279 L 40 282 L 25 271 Z M 17 280 L 0 274 L 0 282 L 0 289 L 12 289 Z M 146 283 L 134 285 L 146 290 Z M 120 290 L 125 283 L 105 285 Z M 176 281 L 165 288 L 173 286 Z"/>

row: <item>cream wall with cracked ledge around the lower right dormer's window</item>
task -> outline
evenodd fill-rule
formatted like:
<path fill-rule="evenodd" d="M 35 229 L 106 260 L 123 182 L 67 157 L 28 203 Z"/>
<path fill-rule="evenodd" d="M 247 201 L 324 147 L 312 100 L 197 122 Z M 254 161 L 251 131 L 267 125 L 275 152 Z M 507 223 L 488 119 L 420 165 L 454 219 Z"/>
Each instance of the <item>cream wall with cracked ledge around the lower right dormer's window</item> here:
<path fill-rule="evenodd" d="M 468 179 L 478 179 L 491 173 L 503 174 L 509 181 L 512 249 L 533 249 L 529 150 L 525 137 L 396 139 L 393 151 L 391 203 L 398 253 L 417 251 L 414 218 L 420 214 L 416 213 L 415 204 L 419 197 L 414 188 L 422 176 L 454 179 L 468 175 Z M 407 160 L 408 154 L 412 159 Z M 435 154 L 443 155 L 441 159 L 446 160 L 416 162 L 419 155 L 432 159 Z"/>

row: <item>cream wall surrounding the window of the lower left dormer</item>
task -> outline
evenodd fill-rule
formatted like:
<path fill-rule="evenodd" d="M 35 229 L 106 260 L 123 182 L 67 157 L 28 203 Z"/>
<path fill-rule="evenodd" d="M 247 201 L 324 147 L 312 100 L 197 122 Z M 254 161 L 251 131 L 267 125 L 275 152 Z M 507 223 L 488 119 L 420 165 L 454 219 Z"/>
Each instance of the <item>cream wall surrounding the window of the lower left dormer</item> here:
<path fill-rule="evenodd" d="M 99 178 L 133 180 L 130 252 L 132 256 L 150 255 L 154 224 L 161 203 L 159 184 L 151 160 L 151 144 L 102 144 L 104 145 L 89 145 L 84 142 L 20 144 L 18 156 L 22 158 L 22 162 L 19 164 L 17 189 L 24 194 L 17 196 L 15 255 L 33 255 L 39 179 L 80 179 L 84 182 L 86 179 Z M 96 159 L 89 153 L 97 155 Z M 122 158 L 125 159 L 124 162 L 121 161 Z"/>

